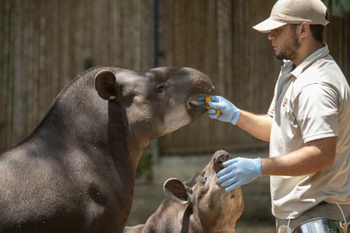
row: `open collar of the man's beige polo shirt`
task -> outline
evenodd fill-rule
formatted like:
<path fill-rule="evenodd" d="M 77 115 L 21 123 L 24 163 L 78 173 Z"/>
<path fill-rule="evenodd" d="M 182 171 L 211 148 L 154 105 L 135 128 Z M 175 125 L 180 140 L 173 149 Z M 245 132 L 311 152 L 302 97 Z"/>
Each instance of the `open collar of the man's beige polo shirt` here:
<path fill-rule="evenodd" d="M 326 43 L 323 43 L 323 46 L 321 49 L 315 51 L 313 54 L 311 54 L 310 56 L 308 56 L 304 61 L 301 62 L 301 64 L 299 66 L 297 66 L 292 72 L 291 74 L 293 74 L 295 77 L 299 77 L 299 75 L 304 72 L 305 69 L 307 69 L 308 67 L 310 67 L 315 61 L 317 61 L 318 59 L 325 57 L 329 54 L 329 50 L 328 50 L 328 45 Z M 293 67 L 293 62 L 290 60 L 283 60 L 284 62 L 284 67 L 285 68 L 291 68 Z"/>

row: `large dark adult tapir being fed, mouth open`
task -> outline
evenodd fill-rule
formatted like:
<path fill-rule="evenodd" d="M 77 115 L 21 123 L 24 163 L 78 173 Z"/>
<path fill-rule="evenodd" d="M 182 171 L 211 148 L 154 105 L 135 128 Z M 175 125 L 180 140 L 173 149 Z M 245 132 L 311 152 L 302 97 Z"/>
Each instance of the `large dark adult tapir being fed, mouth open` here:
<path fill-rule="evenodd" d="M 79 74 L 0 155 L 0 233 L 123 232 L 143 150 L 204 114 L 191 97 L 213 89 L 186 67 Z"/>

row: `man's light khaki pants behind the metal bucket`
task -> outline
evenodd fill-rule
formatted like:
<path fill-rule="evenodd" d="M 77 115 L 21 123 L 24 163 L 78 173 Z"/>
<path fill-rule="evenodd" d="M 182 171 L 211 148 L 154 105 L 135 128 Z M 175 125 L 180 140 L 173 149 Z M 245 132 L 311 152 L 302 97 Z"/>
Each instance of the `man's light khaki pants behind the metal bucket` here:
<path fill-rule="evenodd" d="M 350 205 L 340 205 L 342 208 L 347 222 L 350 221 Z M 330 217 L 334 218 L 337 221 L 344 223 L 344 217 L 336 204 L 330 204 L 326 202 L 321 202 L 316 205 L 314 208 L 307 210 L 298 218 L 290 220 L 289 223 L 289 233 L 292 233 L 300 223 L 313 219 L 316 217 Z M 288 221 L 289 219 L 280 219 L 276 217 L 276 230 L 277 233 L 288 233 Z M 349 228 L 348 228 L 349 231 Z"/>

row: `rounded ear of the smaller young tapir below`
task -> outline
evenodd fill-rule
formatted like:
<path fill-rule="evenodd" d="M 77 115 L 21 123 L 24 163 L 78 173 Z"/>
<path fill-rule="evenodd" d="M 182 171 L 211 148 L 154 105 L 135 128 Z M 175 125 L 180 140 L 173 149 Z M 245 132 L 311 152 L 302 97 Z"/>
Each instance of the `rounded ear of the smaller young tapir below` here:
<path fill-rule="evenodd" d="M 189 195 L 192 193 L 190 187 L 175 178 L 168 179 L 163 188 L 167 197 L 179 204 L 188 203 Z"/>

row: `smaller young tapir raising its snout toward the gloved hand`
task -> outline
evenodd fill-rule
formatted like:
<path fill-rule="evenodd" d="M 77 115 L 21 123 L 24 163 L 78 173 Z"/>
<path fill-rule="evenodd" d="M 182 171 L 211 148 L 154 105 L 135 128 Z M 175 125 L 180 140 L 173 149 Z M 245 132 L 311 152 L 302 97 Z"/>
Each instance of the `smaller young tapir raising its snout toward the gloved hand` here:
<path fill-rule="evenodd" d="M 234 233 L 244 208 L 241 188 L 226 192 L 217 181 L 229 159 L 225 150 L 218 150 L 200 174 L 184 183 L 167 180 L 168 198 L 145 224 L 125 227 L 124 233 Z"/>

